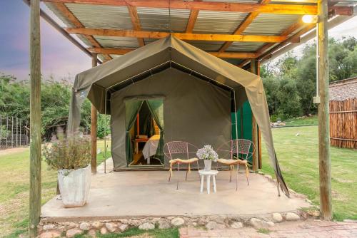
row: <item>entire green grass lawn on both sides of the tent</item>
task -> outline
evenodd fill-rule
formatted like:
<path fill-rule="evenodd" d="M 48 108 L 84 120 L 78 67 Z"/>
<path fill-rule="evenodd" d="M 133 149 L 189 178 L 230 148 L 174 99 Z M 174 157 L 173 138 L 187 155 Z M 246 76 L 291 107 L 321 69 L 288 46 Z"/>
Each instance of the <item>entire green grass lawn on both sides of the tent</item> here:
<path fill-rule="evenodd" d="M 298 136 L 296 134 L 298 133 Z M 273 129 L 276 154 L 286 183 L 318 205 L 318 127 Z M 98 148 L 104 150 L 104 141 Z M 110 148 L 110 143 L 109 143 Z M 109 154 L 110 156 L 110 154 Z M 103 161 L 103 153 L 98 161 Z M 333 214 L 335 219 L 357 219 L 357 152 L 331 148 Z M 98 164 L 99 164 L 98 162 Z M 56 172 L 42 164 L 42 202 L 56 193 Z M 263 172 L 273 175 L 263 147 Z M 26 233 L 29 209 L 29 148 L 0 151 L 0 236 L 18 237 Z M 130 233 L 131 232 L 131 233 Z M 149 232 L 152 237 L 175 237 L 177 229 Z M 141 234 L 131 230 L 125 235 Z M 106 236 L 106 237 L 123 237 Z"/>

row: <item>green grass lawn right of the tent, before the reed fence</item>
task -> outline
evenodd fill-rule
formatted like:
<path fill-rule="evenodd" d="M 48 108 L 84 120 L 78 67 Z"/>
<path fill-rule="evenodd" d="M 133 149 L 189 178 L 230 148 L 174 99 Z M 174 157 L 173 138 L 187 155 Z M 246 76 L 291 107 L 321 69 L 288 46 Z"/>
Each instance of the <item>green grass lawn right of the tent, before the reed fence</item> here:
<path fill-rule="evenodd" d="M 274 128 L 273 140 L 288 187 L 318 205 L 318 126 Z M 262 156 L 262 171 L 273 175 L 264 146 Z M 331 171 L 333 217 L 357 219 L 357 151 L 331 147 Z"/>

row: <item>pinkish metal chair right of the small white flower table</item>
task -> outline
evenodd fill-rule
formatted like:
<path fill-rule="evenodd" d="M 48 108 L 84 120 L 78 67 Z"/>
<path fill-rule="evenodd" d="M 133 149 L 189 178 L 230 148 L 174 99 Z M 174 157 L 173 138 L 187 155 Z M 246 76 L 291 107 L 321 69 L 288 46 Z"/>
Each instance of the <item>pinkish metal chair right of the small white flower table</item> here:
<path fill-rule="evenodd" d="M 251 147 L 253 150 L 251 151 Z M 237 165 L 237 176 L 236 176 L 236 190 L 238 190 L 238 173 L 239 173 L 239 165 L 244 165 L 246 167 L 246 181 L 249 185 L 248 180 L 248 159 L 253 156 L 255 150 L 254 144 L 251 140 L 245 139 L 236 139 L 236 140 L 229 140 L 226 143 L 223 143 L 218 149 L 217 153 L 221 157 L 223 154 L 223 158 L 217 160 L 217 168 L 218 162 L 223 165 L 228 165 L 231 170 L 231 176 L 229 177 L 229 182 L 232 181 L 232 170 L 234 165 Z M 228 157 L 225 159 L 224 157 Z"/>

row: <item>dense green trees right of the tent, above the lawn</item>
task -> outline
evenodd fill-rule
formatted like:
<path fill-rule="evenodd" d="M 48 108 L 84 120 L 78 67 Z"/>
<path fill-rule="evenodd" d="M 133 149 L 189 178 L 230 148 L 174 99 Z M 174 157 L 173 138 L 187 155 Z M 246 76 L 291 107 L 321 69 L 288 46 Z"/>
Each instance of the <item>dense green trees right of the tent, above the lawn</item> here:
<path fill-rule="evenodd" d="M 329 80 L 357 76 L 357 39 L 329 39 Z M 291 117 L 316 113 L 316 43 L 303 48 L 301 58 L 287 53 L 276 63 L 261 66 L 261 78 L 271 115 Z"/>

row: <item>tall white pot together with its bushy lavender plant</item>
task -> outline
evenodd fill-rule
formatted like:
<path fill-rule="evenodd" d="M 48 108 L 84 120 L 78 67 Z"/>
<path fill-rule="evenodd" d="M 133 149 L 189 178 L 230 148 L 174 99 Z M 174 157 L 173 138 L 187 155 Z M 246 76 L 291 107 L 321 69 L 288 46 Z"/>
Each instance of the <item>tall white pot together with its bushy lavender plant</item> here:
<path fill-rule="evenodd" d="M 74 134 L 67 138 L 59 131 L 44 145 L 43 155 L 49 168 L 58 171 L 59 191 L 64 207 L 86 204 L 91 187 L 91 140 Z"/>

